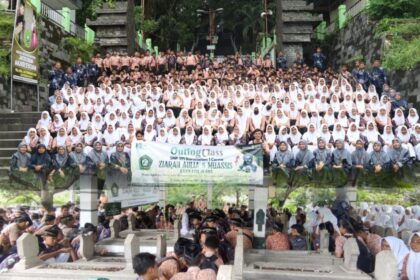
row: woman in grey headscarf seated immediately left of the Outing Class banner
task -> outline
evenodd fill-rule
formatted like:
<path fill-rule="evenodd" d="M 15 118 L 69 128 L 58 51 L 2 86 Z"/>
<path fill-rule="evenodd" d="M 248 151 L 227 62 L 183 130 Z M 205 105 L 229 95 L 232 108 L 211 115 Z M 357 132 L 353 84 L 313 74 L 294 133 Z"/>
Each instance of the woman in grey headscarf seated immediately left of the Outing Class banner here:
<path fill-rule="evenodd" d="M 124 143 L 121 141 L 116 143 L 115 152 L 111 154 L 110 167 L 112 169 L 111 181 L 120 187 L 128 186 L 131 170 L 130 155 L 124 152 Z"/>

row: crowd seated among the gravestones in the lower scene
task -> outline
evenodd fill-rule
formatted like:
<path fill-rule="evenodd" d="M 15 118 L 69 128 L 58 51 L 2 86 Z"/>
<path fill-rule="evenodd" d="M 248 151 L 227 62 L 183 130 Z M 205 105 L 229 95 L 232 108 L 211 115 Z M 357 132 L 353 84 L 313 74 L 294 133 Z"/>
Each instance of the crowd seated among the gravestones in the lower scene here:
<path fill-rule="evenodd" d="M 19 261 L 16 240 L 24 232 L 38 238 L 41 260 L 71 262 L 80 257 L 80 234 L 91 233 L 94 242 L 109 238 L 111 219 L 118 219 L 124 230 L 128 228 L 129 214 L 134 215 L 137 229 L 173 229 L 175 220 L 181 220 L 181 237 L 173 252 L 162 259 L 147 253 L 134 258 L 135 272 L 140 277 L 147 274 L 147 279 L 216 279 L 220 265 L 231 264 L 234 259 L 238 232 L 243 234 L 245 250 L 255 246 L 254 214 L 246 205 L 227 203 L 223 209 L 209 210 L 202 196 L 198 200 L 193 197 L 184 206 L 181 203 L 164 208 L 152 205 L 145 211 L 132 207 L 120 215 L 107 216 L 102 211 L 103 203 L 106 199 L 101 197 L 98 226 L 83 227 L 79 223 L 80 209 L 72 203 L 56 211 L 29 207 L 0 209 L 0 270 L 7 270 Z M 385 233 L 378 227 L 385 229 Z M 338 258 L 344 256 L 346 240 L 355 238 L 360 251 L 358 268 L 366 273 L 374 271 L 375 256 L 380 251 L 390 250 L 397 261 L 398 279 L 417 280 L 420 275 L 418 205 L 404 208 L 360 203 L 352 207 L 340 202 L 297 208 L 292 214 L 286 208 L 274 209 L 269 204 L 265 249 L 319 251 L 322 230 L 329 235 L 328 251 Z M 107 255 L 107 251 L 100 254 Z M 202 277 L 194 278 L 197 274 Z"/>

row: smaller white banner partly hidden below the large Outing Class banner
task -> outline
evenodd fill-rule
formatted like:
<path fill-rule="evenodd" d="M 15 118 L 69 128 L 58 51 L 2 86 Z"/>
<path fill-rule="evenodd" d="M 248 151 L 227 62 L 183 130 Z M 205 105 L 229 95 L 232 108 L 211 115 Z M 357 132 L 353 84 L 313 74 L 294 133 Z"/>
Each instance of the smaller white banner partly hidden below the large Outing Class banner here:
<path fill-rule="evenodd" d="M 111 186 L 107 189 L 109 202 L 121 202 L 122 208 L 140 206 L 159 201 L 159 187 L 139 187 L 139 186 Z"/>

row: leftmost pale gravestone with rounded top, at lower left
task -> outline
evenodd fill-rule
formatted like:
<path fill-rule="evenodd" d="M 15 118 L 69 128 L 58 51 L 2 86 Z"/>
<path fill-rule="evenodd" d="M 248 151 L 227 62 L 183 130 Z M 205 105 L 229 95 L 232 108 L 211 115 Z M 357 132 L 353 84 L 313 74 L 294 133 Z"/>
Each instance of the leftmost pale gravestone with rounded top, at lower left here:
<path fill-rule="evenodd" d="M 20 261 L 14 266 L 14 269 L 24 270 L 43 264 L 43 261 L 38 258 L 38 239 L 35 235 L 22 234 L 16 241 L 16 247 Z"/>

